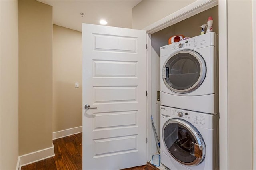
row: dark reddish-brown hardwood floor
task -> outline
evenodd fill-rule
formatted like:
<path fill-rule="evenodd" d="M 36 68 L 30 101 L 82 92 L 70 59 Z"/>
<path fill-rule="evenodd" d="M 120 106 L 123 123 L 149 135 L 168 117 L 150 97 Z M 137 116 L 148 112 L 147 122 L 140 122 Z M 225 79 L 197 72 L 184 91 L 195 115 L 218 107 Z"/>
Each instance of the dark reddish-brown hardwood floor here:
<path fill-rule="evenodd" d="M 23 166 L 21 170 L 82 170 L 82 133 L 53 140 L 55 156 Z M 124 170 L 156 170 L 150 163 Z"/>

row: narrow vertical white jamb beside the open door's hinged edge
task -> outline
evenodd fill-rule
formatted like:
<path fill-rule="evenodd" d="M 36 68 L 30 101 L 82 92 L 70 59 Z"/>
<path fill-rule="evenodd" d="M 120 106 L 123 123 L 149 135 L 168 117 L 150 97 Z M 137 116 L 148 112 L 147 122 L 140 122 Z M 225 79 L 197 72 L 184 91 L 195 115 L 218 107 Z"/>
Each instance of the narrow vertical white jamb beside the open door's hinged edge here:
<path fill-rule="evenodd" d="M 147 160 L 151 160 L 152 158 L 152 125 L 151 125 L 151 35 L 146 35 L 146 43 L 147 43 L 147 138 L 148 138 L 148 145 L 147 145 Z"/>

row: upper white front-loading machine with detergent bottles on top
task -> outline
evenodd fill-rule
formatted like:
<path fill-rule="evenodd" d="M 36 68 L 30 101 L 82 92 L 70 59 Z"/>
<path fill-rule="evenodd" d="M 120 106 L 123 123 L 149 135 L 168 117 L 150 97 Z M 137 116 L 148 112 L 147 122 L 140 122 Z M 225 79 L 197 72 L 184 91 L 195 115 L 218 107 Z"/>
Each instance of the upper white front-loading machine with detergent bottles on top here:
<path fill-rule="evenodd" d="M 218 113 L 218 35 L 160 47 L 161 105 Z"/>

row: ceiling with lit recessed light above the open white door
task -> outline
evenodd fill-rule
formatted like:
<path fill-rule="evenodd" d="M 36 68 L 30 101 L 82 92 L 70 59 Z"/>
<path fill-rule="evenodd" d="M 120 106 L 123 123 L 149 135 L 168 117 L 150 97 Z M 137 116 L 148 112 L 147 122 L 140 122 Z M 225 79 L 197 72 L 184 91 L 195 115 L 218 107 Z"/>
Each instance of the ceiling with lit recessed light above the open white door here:
<path fill-rule="evenodd" d="M 82 23 L 132 28 L 132 8 L 141 0 L 38 0 L 53 8 L 53 24 L 82 31 Z M 82 17 L 80 13 L 84 13 Z"/>

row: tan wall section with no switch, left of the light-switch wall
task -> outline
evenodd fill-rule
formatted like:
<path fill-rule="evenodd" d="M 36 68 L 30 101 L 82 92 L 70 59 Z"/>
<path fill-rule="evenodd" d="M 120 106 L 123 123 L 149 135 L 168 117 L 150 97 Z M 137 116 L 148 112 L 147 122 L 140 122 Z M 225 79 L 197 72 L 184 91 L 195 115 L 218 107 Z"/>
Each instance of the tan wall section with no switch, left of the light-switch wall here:
<path fill-rule="evenodd" d="M 19 1 L 19 154 L 52 147 L 52 6 Z"/>

